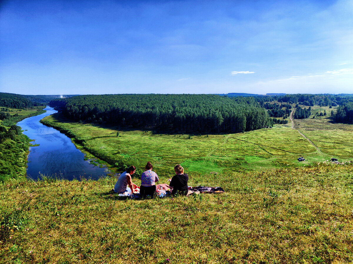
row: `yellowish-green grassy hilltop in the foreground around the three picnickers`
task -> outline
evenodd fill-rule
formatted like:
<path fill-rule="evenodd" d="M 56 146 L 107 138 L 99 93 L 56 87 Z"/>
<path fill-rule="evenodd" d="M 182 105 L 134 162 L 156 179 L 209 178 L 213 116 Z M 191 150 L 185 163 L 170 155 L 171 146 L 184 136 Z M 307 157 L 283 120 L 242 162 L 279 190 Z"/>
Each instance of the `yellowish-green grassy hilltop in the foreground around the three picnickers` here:
<path fill-rule="evenodd" d="M 129 200 L 114 178 L 0 184 L 1 263 L 352 263 L 353 166 L 190 174 L 224 194 Z M 137 182 L 139 184 L 139 182 Z"/>

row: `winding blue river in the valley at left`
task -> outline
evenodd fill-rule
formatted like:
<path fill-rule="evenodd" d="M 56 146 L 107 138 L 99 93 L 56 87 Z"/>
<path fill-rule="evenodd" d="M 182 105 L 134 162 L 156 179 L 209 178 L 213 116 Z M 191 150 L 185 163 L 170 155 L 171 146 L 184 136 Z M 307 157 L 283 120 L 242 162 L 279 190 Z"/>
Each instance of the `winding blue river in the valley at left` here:
<path fill-rule="evenodd" d="M 23 134 L 34 139 L 28 155 L 27 178 L 41 179 L 40 175 L 67 180 L 92 179 L 105 177 L 109 171 L 84 160 L 84 154 L 78 150 L 65 134 L 43 125 L 39 121 L 57 111 L 52 107 L 44 108 L 46 113 L 26 118 L 17 123 Z"/>

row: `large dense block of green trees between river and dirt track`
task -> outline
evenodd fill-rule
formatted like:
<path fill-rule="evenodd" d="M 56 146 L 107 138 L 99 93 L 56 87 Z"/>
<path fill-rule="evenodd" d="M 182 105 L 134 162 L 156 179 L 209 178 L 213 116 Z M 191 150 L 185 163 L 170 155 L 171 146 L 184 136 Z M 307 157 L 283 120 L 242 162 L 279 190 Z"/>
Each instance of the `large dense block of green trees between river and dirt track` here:
<path fill-rule="evenodd" d="M 82 95 L 55 100 L 52 104 L 60 106 L 62 113 L 75 121 L 178 132 L 237 133 L 262 128 L 270 122 L 267 111 L 252 97 Z"/>

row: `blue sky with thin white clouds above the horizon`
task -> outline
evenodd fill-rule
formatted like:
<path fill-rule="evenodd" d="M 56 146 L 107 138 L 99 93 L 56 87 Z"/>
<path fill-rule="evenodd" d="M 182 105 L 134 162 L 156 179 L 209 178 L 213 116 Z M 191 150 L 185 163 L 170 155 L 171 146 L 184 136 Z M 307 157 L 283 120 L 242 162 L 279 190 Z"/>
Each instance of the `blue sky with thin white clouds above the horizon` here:
<path fill-rule="evenodd" d="M 353 0 L 3 0 L 0 92 L 353 93 Z"/>

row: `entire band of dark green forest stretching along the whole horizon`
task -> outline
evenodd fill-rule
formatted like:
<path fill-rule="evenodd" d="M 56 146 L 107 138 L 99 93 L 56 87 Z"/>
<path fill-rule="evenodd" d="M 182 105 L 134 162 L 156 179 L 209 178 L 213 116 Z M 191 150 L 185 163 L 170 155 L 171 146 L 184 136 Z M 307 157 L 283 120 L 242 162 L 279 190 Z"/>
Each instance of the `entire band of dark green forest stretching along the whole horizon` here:
<path fill-rule="evenodd" d="M 64 95 L 62 99 L 59 96 L 0 93 L 0 119 L 11 118 L 7 108 L 50 104 L 60 107 L 66 117 L 81 122 L 185 133 L 237 133 L 286 124 L 295 103 L 293 118 L 309 118 L 310 107 L 315 105 L 339 106 L 336 112 L 331 111 L 332 121 L 353 123 L 352 94 L 120 94 Z"/>

